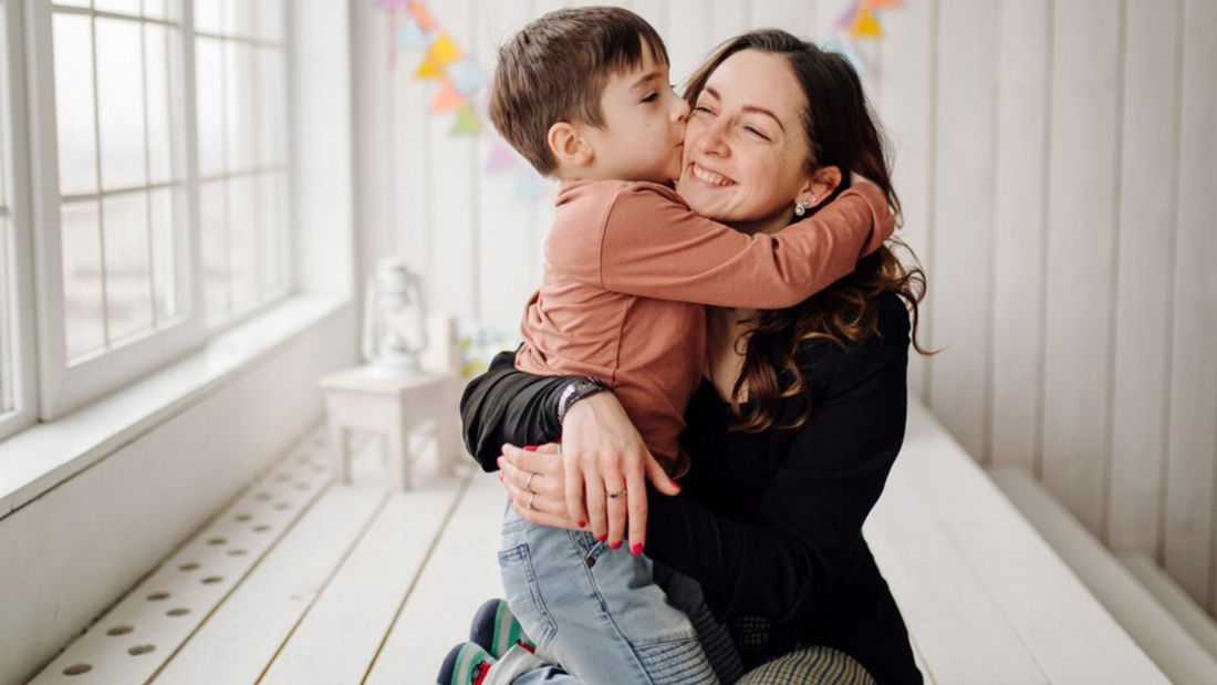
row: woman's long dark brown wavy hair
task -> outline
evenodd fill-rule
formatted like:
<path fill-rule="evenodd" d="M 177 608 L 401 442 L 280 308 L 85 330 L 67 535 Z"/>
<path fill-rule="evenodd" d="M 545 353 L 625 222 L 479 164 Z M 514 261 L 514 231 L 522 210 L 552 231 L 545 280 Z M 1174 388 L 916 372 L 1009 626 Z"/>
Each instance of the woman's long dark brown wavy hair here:
<path fill-rule="evenodd" d="M 695 107 L 710 75 L 728 57 L 742 50 L 780 55 L 790 63 L 807 97 L 803 123 L 812 155 L 808 172 L 823 167 L 841 169 L 842 183 L 820 206 L 835 200 L 846 187 L 851 172 L 875 181 L 887 203 L 899 217 L 901 202 L 892 189 L 884 136 L 862 90 L 862 82 L 849 62 L 836 52 L 778 29 L 745 33 L 724 43 L 689 79 L 685 100 Z M 793 217 L 791 217 L 793 219 Z M 902 262 L 896 251 L 907 253 Z M 780 428 L 798 428 L 811 417 L 811 389 L 796 361 L 801 343 L 824 339 L 842 348 L 856 346 L 879 332 L 877 298 L 896 293 L 909 309 L 913 347 L 932 352 L 916 339 L 918 305 L 925 298 L 925 273 L 913 251 L 899 238 L 858 262 L 853 274 L 836 281 L 801 304 L 787 309 L 758 311 L 748 320 L 744 367 L 731 391 L 736 425 L 731 429 L 759 433 L 778 422 L 784 398 L 803 395 L 806 410 Z M 742 339 L 742 336 L 741 336 Z M 740 341 L 736 341 L 739 344 Z M 750 403 L 740 402 L 747 387 Z"/>

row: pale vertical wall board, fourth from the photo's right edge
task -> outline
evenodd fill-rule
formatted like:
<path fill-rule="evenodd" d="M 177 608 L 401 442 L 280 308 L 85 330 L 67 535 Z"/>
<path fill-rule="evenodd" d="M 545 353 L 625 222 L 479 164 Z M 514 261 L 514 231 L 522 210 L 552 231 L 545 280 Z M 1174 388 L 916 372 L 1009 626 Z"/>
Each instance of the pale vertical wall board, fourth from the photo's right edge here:
<path fill-rule="evenodd" d="M 993 235 L 994 466 L 1037 471 L 1044 303 L 1049 0 L 1003 0 Z"/>

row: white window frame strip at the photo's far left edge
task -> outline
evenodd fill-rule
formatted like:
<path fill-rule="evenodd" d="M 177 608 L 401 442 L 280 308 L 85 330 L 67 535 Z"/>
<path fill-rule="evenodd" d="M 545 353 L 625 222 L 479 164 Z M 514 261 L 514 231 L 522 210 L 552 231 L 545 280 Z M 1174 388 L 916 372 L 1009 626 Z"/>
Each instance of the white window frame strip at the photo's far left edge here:
<path fill-rule="evenodd" d="M 29 183 L 26 147 L 26 90 L 22 0 L 5 0 L 0 6 L 0 30 L 4 30 L 4 54 L 0 54 L 0 134 L 10 164 L 4 174 L 9 200 L 11 228 L 5 252 L 9 264 L 6 292 L 9 296 L 10 339 L 9 375 L 5 377 L 12 410 L 0 414 L 0 440 L 38 421 L 37 336 L 34 324 L 33 245 L 29 212 Z"/>

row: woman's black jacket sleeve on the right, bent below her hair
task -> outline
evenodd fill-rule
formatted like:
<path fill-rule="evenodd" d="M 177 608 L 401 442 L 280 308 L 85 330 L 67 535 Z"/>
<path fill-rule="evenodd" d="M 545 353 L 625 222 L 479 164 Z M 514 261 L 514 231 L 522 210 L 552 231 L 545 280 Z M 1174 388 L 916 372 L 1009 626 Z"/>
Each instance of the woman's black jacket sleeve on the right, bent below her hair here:
<path fill-rule="evenodd" d="M 881 314 L 881 336 L 852 350 L 814 343 L 812 416 L 748 523 L 688 498 L 649 498 L 647 555 L 700 582 L 722 618 L 813 616 L 853 571 L 904 440 L 908 318 L 896 308 Z"/>

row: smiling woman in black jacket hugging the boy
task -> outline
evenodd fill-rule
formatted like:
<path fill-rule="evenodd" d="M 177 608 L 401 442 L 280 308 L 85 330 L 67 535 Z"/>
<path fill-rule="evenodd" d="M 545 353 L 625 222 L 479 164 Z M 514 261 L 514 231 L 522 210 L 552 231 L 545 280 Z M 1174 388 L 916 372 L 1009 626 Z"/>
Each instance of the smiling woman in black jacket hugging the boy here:
<path fill-rule="evenodd" d="M 785 32 L 748 33 L 711 57 L 686 99 L 677 190 L 699 213 L 746 232 L 780 231 L 795 201 L 773 189 L 824 168 L 860 173 L 898 208 L 881 137 L 842 57 Z M 790 309 L 710 315 L 705 380 L 682 439 L 692 468 L 680 496 L 649 492 L 646 552 L 701 584 L 746 663 L 780 657 L 761 669 L 776 681 L 819 681 L 798 659 L 849 683 L 921 681 L 862 524 L 903 440 L 909 310 L 915 332 L 922 285 L 919 270 L 882 248 Z M 483 465 L 501 448 L 517 513 L 577 529 L 566 466 L 639 459 L 645 448 L 608 393 L 571 405 L 560 423 L 571 383 L 516 372 L 504 354 L 470 384 L 461 410 Z M 504 447 L 559 437 L 563 459 Z"/>

